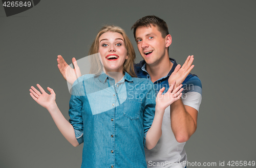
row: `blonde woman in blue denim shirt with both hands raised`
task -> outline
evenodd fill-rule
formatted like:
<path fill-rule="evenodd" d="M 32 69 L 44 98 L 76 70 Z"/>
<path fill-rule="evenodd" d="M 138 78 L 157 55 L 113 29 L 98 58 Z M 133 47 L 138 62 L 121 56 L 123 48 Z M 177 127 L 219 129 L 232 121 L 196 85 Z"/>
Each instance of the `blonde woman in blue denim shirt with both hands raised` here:
<path fill-rule="evenodd" d="M 104 26 L 90 54 L 93 74 L 79 77 L 72 86 L 67 121 L 55 102 L 55 93 L 30 89 L 31 97 L 47 108 L 55 124 L 73 145 L 83 143 L 81 167 L 146 167 L 144 147 L 152 149 L 161 136 L 164 109 L 181 97 L 181 86 L 155 96 L 148 79 L 136 78 L 135 52 L 124 31 Z M 172 83 L 173 86 L 175 83 Z"/>

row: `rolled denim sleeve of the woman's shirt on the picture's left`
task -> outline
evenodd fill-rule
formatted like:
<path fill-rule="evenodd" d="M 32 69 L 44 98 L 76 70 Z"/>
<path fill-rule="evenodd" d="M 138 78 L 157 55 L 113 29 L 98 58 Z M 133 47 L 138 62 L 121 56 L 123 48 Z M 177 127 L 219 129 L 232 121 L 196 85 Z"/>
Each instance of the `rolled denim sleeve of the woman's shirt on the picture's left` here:
<path fill-rule="evenodd" d="M 78 78 L 79 79 L 79 78 Z M 79 144 L 83 143 L 82 121 L 82 81 L 76 80 L 72 86 L 72 95 L 69 102 L 69 122 L 74 128 L 75 136 Z"/>

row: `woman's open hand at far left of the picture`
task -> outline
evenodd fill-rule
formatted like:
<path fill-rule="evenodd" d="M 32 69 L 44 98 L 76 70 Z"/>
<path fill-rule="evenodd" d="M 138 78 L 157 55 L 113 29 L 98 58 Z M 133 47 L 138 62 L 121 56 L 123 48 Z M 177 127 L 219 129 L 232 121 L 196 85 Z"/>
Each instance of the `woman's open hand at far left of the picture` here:
<path fill-rule="evenodd" d="M 44 89 L 42 89 L 42 87 L 37 84 L 36 85 L 39 90 L 41 91 L 41 93 L 35 89 L 33 86 L 31 87 L 30 91 L 30 96 L 41 106 L 45 107 L 46 109 L 48 109 L 51 105 L 53 105 L 55 103 L 55 93 L 53 91 L 53 89 L 51 88 L 47 88 L 47 90 L 51 93 L 50 95 L 48 93 L 45 92 Z"/>

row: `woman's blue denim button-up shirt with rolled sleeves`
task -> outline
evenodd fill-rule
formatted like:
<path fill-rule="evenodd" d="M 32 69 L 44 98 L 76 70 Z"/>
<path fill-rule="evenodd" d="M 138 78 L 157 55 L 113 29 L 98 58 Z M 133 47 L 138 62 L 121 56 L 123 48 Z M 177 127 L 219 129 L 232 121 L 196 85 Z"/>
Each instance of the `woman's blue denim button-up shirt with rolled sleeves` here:
<path fill-rule="evenodd" d="M 81 167 L 146 167 L 145 137 L 155 115 L 156 91 L 148 79 L 125 73 L 79 77 L 72 86 L 70 123 L 83 143 Z"/>

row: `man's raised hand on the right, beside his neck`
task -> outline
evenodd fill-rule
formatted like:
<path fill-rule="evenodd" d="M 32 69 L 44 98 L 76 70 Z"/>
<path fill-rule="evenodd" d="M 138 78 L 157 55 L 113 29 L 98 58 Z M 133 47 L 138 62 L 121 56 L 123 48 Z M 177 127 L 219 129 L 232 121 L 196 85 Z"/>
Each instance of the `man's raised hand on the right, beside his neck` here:
<path fill-rule="evenodd" d="M 178 87 L 185 80 L 190 71 L 194 68 L 194 65 L 192 65 L 193 61 L 194 56 L 191 55 L 190 57 L 189 55 L 182 67 L 180 65 L 177 65 L 174 72 L 170 75 L 168 79 L 169 84 L 176 81 L 175 88 Z"/>

